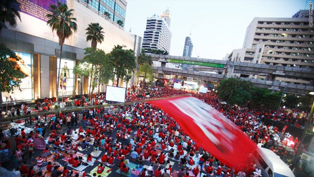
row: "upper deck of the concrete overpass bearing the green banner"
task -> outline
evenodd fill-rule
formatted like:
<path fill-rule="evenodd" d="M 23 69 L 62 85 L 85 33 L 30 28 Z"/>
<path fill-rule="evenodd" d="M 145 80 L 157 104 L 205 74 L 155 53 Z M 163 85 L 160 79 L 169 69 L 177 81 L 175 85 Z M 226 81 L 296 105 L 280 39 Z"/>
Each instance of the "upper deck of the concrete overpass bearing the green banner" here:
<path fill-rule="evenodd" d="M 213 71 L 214 68 L 218 72 L 240 73 L 240 74 L 252 74 L 252 75 L 270 75 L 270 78 L 289 77 L 295 79 L 314 79 L 314 69 L 309 68 L 297 68 L 288 66 L 277 66 L 269 64 L 257 64 L 251 62 L 239 62 L 239 61 L 226 61 L 219 59 L 203 59 L 203 58 L 190 58 L 190 57 L 179 57 L 179 56 L 165 56 L 148 54 L 152 56 L 154 61 L 161 62 L 161 66 L 164 67 L 166 62 L 182 63 L 195 65 L 192 67 L 195 71 Z"/>

